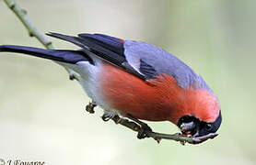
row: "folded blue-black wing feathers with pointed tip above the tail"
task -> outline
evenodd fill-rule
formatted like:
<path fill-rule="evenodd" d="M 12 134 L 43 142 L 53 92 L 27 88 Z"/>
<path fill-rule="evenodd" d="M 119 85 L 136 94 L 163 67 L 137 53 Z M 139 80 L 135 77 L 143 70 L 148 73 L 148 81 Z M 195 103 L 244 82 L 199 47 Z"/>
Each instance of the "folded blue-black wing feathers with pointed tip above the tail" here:
<path fill-rule="evenodd" d="M 66 36 L 58 33 L 48 33 L 48 36 L 53 38 L 61 38 L 66 41 L 72 42 L 82 49 L 99 56 L 102 60 L 106 60 L 111 64 L 121 67 L 123 70 L 128 71 L 135 76 L 145 80 L 145 75 L 142 75 L 138 71 L 129 65 L 124 56 L 123 40 L 120 38 L 113 38 L 111 36 L 102 34 L 78 34 L 77 37 Z"/>

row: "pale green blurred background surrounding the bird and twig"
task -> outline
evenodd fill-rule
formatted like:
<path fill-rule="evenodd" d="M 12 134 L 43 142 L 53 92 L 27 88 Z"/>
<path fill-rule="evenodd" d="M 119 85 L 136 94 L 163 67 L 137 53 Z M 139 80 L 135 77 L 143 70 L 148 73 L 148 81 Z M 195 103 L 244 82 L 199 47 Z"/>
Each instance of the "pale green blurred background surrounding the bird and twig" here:
<path fill-rule="evenodd" d="M 0 159 L 46 164 L 255 164 L 255 1 L 18 0 L 42 32 L 106 33 L 169 50 L 201 74 L 221 102 L 214 140 L 192 146 L 138 140 L 85 112 L 89 99 L 50 60 L 1 53 Z M 0 44 L 41 47 L 0 1 Z M 52 38 L 51 38 L 52 39 Z M 75 46 L 52 39 L 55 48 Z M 177 132 L 168 122 L 149 125 Z"/>

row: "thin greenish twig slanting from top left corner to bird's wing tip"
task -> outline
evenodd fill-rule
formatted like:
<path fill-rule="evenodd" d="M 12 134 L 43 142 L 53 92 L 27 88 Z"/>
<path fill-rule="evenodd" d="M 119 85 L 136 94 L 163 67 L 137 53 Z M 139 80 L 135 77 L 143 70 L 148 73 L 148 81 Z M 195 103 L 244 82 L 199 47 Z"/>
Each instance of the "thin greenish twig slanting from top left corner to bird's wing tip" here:
<path fill-rule="evenodd" d="M 29 20 L 29 17 L 27 16 L 27 12 L 23 10 L 20 6 L 17 5 L 12 0 L 4 0 L 6 3 L 6 6 L 8 6 L 19 18 L 19 20 L 23 23 L 23 25 L 27 28 L 29 32 L 30 37 L 37 38 L 41 44 L 46 49 L 53 49 L 52 42 L 48 40 L 42 33 L 39 31 Z"/>

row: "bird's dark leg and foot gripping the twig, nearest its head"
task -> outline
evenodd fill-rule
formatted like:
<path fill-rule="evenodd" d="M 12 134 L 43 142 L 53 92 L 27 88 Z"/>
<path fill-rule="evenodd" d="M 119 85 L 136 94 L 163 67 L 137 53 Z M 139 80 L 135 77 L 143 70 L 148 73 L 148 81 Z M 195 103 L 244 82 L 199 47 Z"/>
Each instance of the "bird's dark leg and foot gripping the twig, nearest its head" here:
<path fill-rule="evenodd" d="M 148 137 L 147 133 L 148 132 L 152 132 L 151 127 L 147 126 L 147 124 L 145 124 L 144 122 L 142 122 L 139 119 L 135 118 L 133 115 L 127 114 L 126 117 L 131 119 L 131 120 L 133 120 L 134 122 L 136 122 L 137 124 L 139 124 L 141 126 L 139 131 L 138 131 L 138 135 L 137 135 L 137 137 L 139 139 Z"/>

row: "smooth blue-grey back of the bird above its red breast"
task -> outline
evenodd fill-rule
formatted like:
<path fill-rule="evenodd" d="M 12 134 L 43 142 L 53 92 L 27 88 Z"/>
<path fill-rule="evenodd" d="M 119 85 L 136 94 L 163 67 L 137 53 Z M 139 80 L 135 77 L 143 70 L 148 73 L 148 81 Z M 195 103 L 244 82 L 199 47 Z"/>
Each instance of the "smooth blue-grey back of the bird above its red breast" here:
<path fill-rule="evenodd" d="M 211 92 L 211 89 L 201 76 L 198 76 L 177 57 L 155 45 L 125 40 L 124 55 L 135 71 L 148 78 L 159 73 L 166 73 L 173 76 L 183 89 L 187 89 L 193 84 L 197 88 L 204 88 Z"/>

